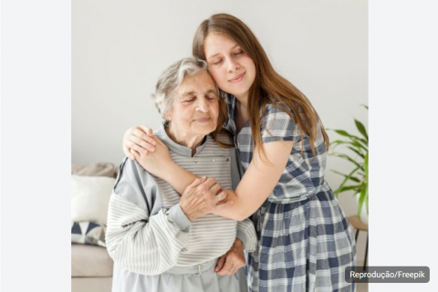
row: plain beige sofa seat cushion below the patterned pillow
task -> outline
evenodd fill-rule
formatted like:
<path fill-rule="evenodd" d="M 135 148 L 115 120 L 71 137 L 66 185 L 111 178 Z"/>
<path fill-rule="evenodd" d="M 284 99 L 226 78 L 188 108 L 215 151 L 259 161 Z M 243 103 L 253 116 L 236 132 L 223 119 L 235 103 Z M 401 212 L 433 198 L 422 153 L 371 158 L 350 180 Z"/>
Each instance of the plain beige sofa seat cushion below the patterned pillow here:
<path fill-rule="evenodd" d="M 113 266 L 105 247 L 71 245 L 71 276 L 112 276 Z"/>

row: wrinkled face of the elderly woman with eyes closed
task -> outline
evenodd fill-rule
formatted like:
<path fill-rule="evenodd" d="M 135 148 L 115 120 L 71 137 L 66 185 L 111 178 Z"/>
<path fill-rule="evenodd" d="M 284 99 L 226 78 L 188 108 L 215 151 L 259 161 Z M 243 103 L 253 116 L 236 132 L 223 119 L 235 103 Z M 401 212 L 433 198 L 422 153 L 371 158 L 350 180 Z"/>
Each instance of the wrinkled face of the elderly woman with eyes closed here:
<path fill-rule="evenodd" d="M 186 135 L 207 135 L 217 126 L 219 101 L 213 78 L 205 71 L 186 76 L 167 119 Z"/>

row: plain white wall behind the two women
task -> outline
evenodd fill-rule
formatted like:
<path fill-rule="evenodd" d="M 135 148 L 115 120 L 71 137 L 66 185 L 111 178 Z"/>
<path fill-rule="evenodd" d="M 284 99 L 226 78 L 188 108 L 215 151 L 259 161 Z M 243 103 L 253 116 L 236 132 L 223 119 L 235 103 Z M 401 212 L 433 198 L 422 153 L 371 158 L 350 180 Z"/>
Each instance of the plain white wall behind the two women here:
<path fill-rule="evenodd" d="M 72 2 L 72 163 L 120 163 L 122 135 L 161 122 L 150 95 L 164 68 L 191 55 L 194 32 L 214 13 L 242 19 L 277 71 L 311 100 L 326 128 L 368 127 L 368 1 Z M 337 135 L 328 131 L 332 141 Z M 349 163 L 329 157 L 328 170 Z M 339 175 L 327 172 L 336 189 Z M 356 214 L 349 193 L 339 195 Z M 358 257 L 363 257 L 363 240 Z"/>

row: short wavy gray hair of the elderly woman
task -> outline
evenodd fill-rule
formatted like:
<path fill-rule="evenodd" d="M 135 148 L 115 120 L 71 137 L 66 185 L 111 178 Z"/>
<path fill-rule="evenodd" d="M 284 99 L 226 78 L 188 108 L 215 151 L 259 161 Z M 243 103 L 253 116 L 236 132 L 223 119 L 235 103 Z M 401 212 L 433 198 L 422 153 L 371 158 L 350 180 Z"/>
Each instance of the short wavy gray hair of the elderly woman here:
<path fill-rule="evenodd" d="M 154 99 L 155 106 L 162 114 L 163 119 L 172 110 L 176 90 L 183 84 L 184 78 L 202 71 L 208 72 L 205 61 L 196 57 L 184 57 L 162 72 L 155 86 L 155 93 L 152 94 L 152 99 Z M 216 91 L 218 91 L 217 86 Z M 217 97 L 219 96 L 217 95 Z"/>

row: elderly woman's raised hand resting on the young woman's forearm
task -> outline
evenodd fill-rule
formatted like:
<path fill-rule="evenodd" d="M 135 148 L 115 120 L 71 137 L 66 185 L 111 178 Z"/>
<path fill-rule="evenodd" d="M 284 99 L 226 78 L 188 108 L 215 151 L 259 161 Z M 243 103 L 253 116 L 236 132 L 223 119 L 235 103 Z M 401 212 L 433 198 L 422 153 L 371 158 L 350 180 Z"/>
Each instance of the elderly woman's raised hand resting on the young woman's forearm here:
<path fill-rule="evenodd" d="M 193 222 L 205 214 L 212 214 L 230 206 L 233 201 L 221 202 L 226 196 L 227 193 L 214 178 L 198 178 L 185 189 L 180 206 L 187 218 Z"/>

